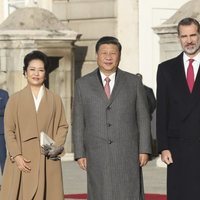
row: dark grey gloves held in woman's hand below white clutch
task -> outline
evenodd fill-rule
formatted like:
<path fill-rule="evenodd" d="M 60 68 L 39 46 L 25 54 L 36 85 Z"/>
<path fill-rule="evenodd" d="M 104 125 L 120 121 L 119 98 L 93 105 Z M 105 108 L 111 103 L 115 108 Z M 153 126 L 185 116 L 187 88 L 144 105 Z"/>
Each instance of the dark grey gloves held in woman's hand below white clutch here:
<path fill-rule="evenodd" d="M 42 153 L 49 159 L 51 160 L 60 160 L 60 154 L 63 152 L 64 147 L 60 146 L 60 147 L 56 147 L 54 145 L 44 145 L 42 147 Z"/>

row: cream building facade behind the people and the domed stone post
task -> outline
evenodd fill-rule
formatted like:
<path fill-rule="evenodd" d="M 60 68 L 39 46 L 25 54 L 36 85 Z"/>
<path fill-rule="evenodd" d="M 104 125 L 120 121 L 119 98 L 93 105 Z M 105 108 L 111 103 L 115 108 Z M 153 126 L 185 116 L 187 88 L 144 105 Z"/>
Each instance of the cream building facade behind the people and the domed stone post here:
<path fill-rule="evenodd" d="M 116 36 L 122 43 L 120 68 L 131 73 L 141 73 L 144 83 L 155 91 L 156 71 L 161 55 L 159 36 L 153 28 L 165 22 L 186 2 L 188 0 L 2 0 L 0 23 L 19 8 L 39 7 L 52 12 L 66 29 L 81 35 L 72 47 L 72 99 L 74 81 L 97 67 L 94 47 L 103 35 Z M 0 87 L 7 89 L 11 80 L 6 78 L 5 66 L 0 65 L 0 72 L 3 72 L 1 76 L 5 76 L 3 79 L 0 77 Z M 1 82 L 4 79 L 7 81 L 6 84 Z M 54 85 L 51 88 L 55 88 Z M 66 108 L 70 109 L 71 101 L 68 104 L 70 105 Z M 70 115 L 68 121 L 71 123 Z M 73 152 L 73 147 L 69 145 L 70 134 L 67 142 L 69 153 Z"/>

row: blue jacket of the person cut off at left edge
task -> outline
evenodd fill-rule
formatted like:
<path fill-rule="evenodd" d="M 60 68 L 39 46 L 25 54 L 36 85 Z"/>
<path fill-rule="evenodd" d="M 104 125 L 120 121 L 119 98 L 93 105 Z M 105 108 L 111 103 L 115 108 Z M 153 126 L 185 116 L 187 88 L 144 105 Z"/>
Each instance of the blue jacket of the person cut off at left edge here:
<path fill-rule="evenodd" d="M 4 110 L 8 101 L 8 92 L 0 89 L 0 134 L 4 134 Z"/>

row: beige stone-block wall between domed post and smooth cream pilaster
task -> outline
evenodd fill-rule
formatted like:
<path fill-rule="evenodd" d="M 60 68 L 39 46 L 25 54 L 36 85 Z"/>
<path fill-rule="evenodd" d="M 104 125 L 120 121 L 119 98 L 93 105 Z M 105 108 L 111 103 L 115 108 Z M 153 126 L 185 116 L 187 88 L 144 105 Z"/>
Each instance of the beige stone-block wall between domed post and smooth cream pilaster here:
<path fill-rule="evenodd" d="M 54 0 L 52 12 L 68 28 L 82 34 L 75 48 L 76 78 L 91 72 L 96 68 L 97 39 L 116 35 L 116 0 Z"/>

